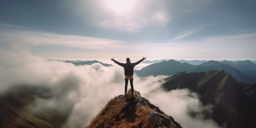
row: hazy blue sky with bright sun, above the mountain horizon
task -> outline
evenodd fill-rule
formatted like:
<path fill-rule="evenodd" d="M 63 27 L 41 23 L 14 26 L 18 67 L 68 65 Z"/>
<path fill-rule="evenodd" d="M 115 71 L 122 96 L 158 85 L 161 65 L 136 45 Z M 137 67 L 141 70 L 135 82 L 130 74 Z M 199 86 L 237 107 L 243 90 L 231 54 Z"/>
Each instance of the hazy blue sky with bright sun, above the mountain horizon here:
<path fill-rule="evenodd" d="M 255 0 L 1 0 L 0 50 L 255 61 L 255 14 Z"/>

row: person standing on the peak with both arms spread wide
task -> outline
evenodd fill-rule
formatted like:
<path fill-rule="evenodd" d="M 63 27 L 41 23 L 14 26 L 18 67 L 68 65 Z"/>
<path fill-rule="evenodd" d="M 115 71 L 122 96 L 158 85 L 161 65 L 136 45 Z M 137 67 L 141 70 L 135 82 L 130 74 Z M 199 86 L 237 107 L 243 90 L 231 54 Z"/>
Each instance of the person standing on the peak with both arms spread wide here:
<path fill-rule="evenodd" d="M 141 63 L 143 60 L 145 60 L 146 57 L 143 57 L 141 60 L 139 60 L 136 63 L 131 63 L 130 62 L 130 58 L 126 58 L 126 63 L 120 63 L 118 61 L 115 61 L 114 58 L 111 58 L 111 61 L 114 61 L 115 63 L 117 63 L 118 65 L 124 67 L 124 75 L 125 75 L 125 90 L 124 93 L 126 94 L 127 92 L 127 85 L 128 85 L 128 80 L 130 79 L 130 85 L 132 88 L 132 94 L 133 94 L 133 68 L 135 67 L 135 65 Z"/>

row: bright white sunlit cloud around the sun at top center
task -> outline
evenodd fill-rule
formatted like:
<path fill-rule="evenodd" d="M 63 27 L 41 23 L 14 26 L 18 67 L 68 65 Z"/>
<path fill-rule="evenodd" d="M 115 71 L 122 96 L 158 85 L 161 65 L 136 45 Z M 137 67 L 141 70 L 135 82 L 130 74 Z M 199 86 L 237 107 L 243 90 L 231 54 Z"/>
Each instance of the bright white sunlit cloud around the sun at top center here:
<path fill-rule="evenodd" d="M 115 3 L 115 4 L 113 4 Z M 137 32 L 146 27 L 164 26 L 170 19 L 165 2 L 129 0 L 129 3 L 113 0 L 79 1 L 73 4 L 78 16 L 92 25 L 118 31 Z M 126 8 L 121 8 L 128 4 Z"/>

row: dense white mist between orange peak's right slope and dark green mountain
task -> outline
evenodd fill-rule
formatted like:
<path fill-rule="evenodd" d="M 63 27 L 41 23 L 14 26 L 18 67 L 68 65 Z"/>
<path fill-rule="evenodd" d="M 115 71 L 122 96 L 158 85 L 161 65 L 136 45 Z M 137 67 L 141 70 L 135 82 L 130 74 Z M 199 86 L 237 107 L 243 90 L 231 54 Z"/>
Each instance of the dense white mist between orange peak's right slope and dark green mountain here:
<path fill-rule="evenodd" d="M 198 94 L 187 89 L 165 92 L 157 90 L 147 94 L 149 101 L 156 103 L 167 115 L 171 115 L 183 128 L 220 128 L 211 119 L 204 119 L 203 112 L 211 115 L 211 105 L 203 106 Z M 189 112 L 196 112 L 195 118 L 188 116 Z"/>

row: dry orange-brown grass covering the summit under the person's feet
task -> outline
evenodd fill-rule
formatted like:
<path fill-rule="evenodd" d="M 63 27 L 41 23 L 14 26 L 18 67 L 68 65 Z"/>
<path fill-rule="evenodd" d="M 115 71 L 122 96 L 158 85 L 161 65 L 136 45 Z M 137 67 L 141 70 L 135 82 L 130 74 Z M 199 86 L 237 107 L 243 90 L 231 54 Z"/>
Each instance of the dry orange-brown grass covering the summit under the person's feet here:
<path fill-rule="evenodd" d="M 135 91 L 132 96 L 129 90 L 127 96 L 119 95 L 110 99 L 85 128 L 153 128 L 148 117 L 155 110 L 148 106 L 136 106 L 135 97 L 141 98 L 138 92 Z"/>

